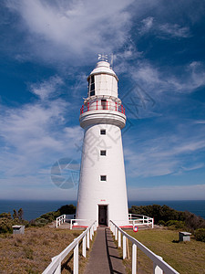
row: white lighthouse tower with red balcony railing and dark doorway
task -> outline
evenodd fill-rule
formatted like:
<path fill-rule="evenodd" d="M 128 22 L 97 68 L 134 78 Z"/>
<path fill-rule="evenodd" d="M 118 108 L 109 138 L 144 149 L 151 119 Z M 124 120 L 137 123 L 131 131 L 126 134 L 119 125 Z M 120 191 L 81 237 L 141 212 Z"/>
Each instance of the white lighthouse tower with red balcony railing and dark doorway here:
<path fill-rule="evenodd" d="M 80 110 L 85 130 L 77 197 L 77 219 L 83 225 L 128 225 L 128 197 L 121 140 L 125 110 L 118 99 L 118 77 L 101 56 L 87 78 L 87 99 Z"/>

